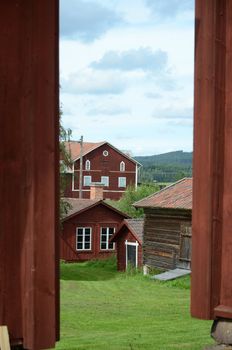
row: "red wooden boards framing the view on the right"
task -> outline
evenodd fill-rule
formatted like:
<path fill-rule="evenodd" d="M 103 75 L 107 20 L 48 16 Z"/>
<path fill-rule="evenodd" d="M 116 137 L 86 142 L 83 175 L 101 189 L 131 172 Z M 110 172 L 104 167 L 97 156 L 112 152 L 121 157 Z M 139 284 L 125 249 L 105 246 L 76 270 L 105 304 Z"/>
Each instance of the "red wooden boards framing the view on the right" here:
<path fill-rule="evenodd" d="M 192 315 L 232 319 L 232 1 L 196 0 Z"/>

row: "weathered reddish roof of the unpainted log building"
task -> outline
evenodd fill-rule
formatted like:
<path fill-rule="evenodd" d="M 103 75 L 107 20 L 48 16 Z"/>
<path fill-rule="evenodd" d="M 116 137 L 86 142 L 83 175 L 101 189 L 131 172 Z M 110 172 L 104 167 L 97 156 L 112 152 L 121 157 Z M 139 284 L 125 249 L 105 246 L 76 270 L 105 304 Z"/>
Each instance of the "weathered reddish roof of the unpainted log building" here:
<path fill-rule="evenodd" d="M 192 178 L 184 178 L 133 204 L 137 208 L 192 209 Z"/>

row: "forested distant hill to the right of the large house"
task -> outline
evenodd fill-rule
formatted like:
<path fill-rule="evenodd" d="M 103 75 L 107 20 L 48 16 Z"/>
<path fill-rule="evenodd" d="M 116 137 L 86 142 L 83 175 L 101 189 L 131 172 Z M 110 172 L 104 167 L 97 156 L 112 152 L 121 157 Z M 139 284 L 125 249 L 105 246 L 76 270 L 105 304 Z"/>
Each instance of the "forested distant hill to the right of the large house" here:
<path fill-rule="evenodd" d="M 153 156 L 134 157 L 143 165 L 141 182 L 174 182 L 192 176 L 192 152 L 175 151 Z"/>

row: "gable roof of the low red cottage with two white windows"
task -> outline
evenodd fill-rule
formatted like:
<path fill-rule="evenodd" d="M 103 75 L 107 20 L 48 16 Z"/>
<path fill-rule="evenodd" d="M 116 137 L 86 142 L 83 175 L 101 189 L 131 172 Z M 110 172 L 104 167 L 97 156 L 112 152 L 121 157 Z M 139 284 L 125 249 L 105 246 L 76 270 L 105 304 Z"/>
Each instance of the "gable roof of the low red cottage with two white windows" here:
<path fill-rule="evenodd" d="M 67 201 L 71 208 L 68 210 L 67 215 L 63 219 L 63 221 L 69 220 L 75 215 L 79 215 L 83 213 L 86 210 L 89 210 L 99 204 L 104 205 L 105 207 L 109 208 L 110 210 L 118 213 L 119 215 L 122 215 L 124 218 L 129 218 L 129 216 L 122 211 L 114 208 L 110 204 L 106 203 L 103 199 L 79 199 L 79 198 L 65 198 L 65 201 Z"/>

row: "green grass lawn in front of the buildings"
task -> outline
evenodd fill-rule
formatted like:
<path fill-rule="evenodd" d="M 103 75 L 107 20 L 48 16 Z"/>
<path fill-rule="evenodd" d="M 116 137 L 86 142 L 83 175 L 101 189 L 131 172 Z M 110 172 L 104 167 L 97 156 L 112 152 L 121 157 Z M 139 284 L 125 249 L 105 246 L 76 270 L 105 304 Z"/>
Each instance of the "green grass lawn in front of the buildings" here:
<path fill-rule="evenodd" d="M 61 264 L 57 349 L 200 350 L 211 343 L 211 322 L 190 317 L 189 284 L 119 273 L 114 259 Z"/>

